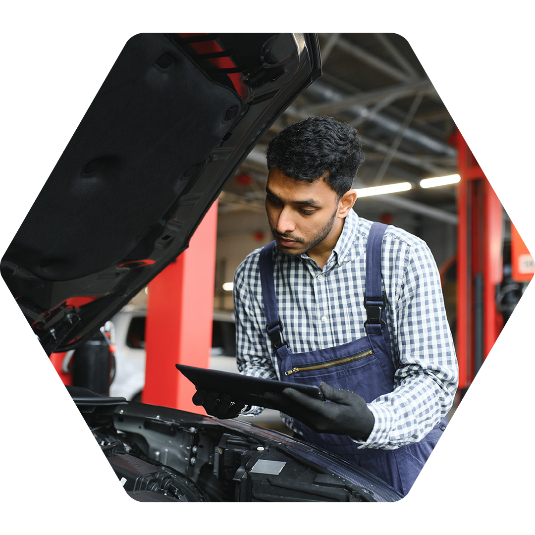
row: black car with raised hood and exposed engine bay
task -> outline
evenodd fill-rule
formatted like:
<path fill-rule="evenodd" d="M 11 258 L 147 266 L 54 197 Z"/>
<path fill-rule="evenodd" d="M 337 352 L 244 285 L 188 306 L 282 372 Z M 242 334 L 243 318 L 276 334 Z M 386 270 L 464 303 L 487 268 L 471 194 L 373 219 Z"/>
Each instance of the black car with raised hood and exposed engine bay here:
<path fill-rule="evenodd" d="M 2 258 L 3 392 L 55 392 L 49 356 L 83 347 L 188 247 L 225 182 L 320 73 L 316 34 L 127 41 Z M 69 392 L 134 501 L 403 501 L 263 427 Z"/>

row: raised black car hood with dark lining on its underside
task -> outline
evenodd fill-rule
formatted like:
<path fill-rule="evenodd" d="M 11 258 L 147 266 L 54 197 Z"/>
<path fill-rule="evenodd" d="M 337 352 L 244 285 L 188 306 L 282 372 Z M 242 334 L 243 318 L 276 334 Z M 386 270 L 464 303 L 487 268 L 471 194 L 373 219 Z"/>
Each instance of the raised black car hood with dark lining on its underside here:
<path fill-rule="evenodd" d="M 2 258 L 3 382 L 46 383 L 52 351 L 87 341 L 184 251 L 320 74 L 316 34 L 129 39 Z"/>

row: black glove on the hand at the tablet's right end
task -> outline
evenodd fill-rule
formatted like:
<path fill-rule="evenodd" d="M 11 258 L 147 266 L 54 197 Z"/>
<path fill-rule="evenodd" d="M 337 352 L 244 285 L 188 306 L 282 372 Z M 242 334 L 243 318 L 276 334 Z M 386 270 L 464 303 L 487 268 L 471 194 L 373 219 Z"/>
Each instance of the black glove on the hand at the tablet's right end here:
<path fill-rule="evenodd" d="M 357 440 L 367 440 L 375 424 L 375 417 L 364 398 L 326 383 L 321 383 L 319 389 L 330 402 L 312 398 L 291 387 L 282 391 L 284 396 L 265 396 L 277 404 L 279 410 L 317 433 L 343 434 Z"/>

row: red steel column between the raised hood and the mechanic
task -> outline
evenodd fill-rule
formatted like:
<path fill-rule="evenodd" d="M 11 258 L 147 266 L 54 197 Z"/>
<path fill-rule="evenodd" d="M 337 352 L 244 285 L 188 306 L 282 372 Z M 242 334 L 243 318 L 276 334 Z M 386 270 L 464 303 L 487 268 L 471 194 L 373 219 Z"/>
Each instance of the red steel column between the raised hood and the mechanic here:
<path fill-rule="evenodd" d="M 175 364 L 210 366 L 216 238 L 217 201 L 189 248 L 149 284 L 143 403 L 202 412 L 192 403 L 195 387 Z"/>

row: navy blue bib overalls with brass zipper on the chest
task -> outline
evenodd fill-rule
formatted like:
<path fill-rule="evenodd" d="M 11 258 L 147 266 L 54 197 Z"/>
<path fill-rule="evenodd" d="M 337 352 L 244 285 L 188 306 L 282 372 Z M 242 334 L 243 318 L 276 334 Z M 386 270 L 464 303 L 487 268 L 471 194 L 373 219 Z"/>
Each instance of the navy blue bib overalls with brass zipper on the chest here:
<path fill-rule="evenodd" d="M 322 381 L 361 395 L 366 402 L 394 389 L 394 364 L 386 325 L 385 300 L 381 288 L 381 241 L 387 225 L 374 223 L 366 245 L 366 291 L 364 305 L 368 319 L 366 337 L 341 346 L 293 354 L 282 338 L 273 283 L 272 251 L 275 242 L 263 248 L 260 255 L 262 296 L 266 328 L 276 351 L 281 380 L 288 383 L 318 385 Z M 425 470 L 426 458 L 439 438 L 445 438 L 446 417 L 424 439 L 394 450 L 363 448 L 346 435 L 316 433 L 299 421 L 294 426 L 304 440 L 336 453 L 348 462 L 375 473 L 401 493 Z"/>

